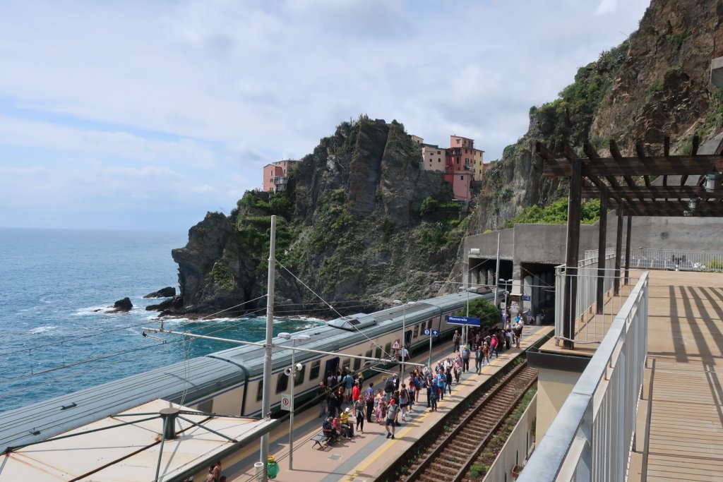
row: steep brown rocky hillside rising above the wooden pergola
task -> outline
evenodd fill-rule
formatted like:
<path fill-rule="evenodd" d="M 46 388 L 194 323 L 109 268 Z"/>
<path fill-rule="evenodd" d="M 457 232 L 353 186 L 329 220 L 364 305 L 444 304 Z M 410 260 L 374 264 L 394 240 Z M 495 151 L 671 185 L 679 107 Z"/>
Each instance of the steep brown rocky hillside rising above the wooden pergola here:
<path fill-rule="evenodd" d="M 609 155 L 615 139 L 626 155 L 643 139 L 659 154 L 666 135 L 675 153 L 690 149 L 693 134 L 705 140 L 718 132 L 723 95 L 711 85 L 710 62 L 723 54 L 722 15 L 720 0 L 653 0 L 636 33 L 579 69 L 560 98 L 531 108 L 528 132 L 488 171 L 477 231 L 501 228 L 525 207 L 567 195 L 566 181 L 541 177 L 536 141 L 554 152 L 568 142 L 581 154 L 590 139 Z"/>

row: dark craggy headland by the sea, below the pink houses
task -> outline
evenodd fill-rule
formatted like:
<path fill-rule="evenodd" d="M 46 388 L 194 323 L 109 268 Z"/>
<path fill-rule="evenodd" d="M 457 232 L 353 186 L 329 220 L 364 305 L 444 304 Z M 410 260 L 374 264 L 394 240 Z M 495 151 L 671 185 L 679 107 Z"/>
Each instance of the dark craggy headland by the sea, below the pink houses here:
<path fill-rule="evenodd" d="M 279 194 L 249 192 L 226 216 L 209 213 L 174 249 L 176 314 L 265 306 L 268 228 L 277 215 L 277 313 L 376 309 L 425 296 L 447 277 L 464 225 L 442 173 L 419 168 L 401 124 L 362 117 L 322 139 Z M 422 209 L 424 205 L 424 209 Z M 317 293 L 318 296 L 315 294 Z M 322 301 L 322 299 L 325 301 Z M 315 311 L 318 310 L 318 311 Z"/>

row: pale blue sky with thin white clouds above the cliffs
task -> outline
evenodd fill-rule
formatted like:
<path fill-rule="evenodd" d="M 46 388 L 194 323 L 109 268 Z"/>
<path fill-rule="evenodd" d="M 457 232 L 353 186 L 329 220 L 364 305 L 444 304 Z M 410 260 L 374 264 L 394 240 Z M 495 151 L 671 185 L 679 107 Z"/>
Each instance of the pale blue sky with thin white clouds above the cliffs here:
<path fill-rule="evenodd" d="M 0 226 L 187 231 L 341 121 L 485 161 L 649 0 L 4 0 Z"/>

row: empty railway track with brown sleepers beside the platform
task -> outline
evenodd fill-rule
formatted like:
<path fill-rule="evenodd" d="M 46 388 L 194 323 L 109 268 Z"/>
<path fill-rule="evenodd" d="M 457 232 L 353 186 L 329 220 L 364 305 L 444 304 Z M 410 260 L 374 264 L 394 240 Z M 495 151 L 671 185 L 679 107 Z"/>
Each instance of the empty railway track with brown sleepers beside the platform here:
<path fill-rule="evenodd" d="M 461 481 L 521 398 L 537 380 L 537 370 L 527 363 L 510 371 L 489 392 L 477 400 L 455 422 L 454 429 L 442 433 L 437 442 L 420 455 L 404 481 Z"/>

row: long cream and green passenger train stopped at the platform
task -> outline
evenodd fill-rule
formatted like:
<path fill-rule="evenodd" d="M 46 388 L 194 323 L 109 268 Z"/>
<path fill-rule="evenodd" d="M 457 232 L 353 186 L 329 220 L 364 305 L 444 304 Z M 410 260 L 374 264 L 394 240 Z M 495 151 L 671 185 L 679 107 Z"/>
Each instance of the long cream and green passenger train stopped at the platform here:
<path fill-rule="evenodd" d="M 296 351 L 295 363 L 300 369 L 294 375 L 294 401 L 301 403 L 314 397 L 330 371 L 340 367 L 352 371 L 372 369 L 370 363 L 349 355 L 385 359 L 393 353 L 395 342 L 414 353 L 429 345 L 424 329 L 438 330 L 440 339 L 449 337 L 458 325 L 448 324 L 446 316 L 479 298 L 492 301 L 495 293 L 463 291 L 437 296 L 371 314 L 333 319 L 324 326 L 295 332 L 309 337 L 298 340 L 296 347 L 333 355 Z M 401 335 L 403 325 L 405 332 Z M 281 395 L 290 389 L 291 380 L 284 370 L 291 365 L 291 350 L 283 348 L 284 342 L 280 337 L 273 340 L 279 346 L 273 351 L 272 410 L 279 410 Z M 263 348 L 239 345 L 9 410 L 0 413 L 0 446 L 17 447 L 48 439 L 157 398 L 206 413 L 259 417 L 263 359 Z"/>

